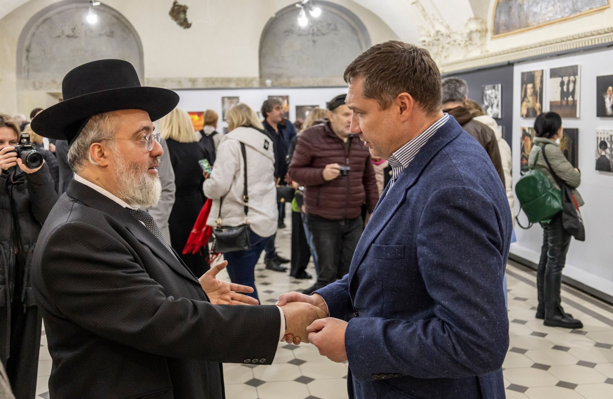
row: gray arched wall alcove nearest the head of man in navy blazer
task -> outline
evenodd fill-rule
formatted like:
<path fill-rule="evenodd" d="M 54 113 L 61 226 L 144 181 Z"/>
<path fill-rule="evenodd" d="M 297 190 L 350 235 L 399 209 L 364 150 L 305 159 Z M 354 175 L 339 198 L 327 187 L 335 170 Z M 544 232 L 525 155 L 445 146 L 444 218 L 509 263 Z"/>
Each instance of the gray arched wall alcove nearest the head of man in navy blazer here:
<path fill-rule="evenodd" d="M 321 15 L 299 26 L 294 4 L 276 12 L 264 26 L 259 49 L 260 84 L 342 85 L 345 67 L 370 47 L 364 23 L 338 4 L 318 1 Z"/>

